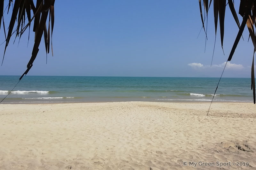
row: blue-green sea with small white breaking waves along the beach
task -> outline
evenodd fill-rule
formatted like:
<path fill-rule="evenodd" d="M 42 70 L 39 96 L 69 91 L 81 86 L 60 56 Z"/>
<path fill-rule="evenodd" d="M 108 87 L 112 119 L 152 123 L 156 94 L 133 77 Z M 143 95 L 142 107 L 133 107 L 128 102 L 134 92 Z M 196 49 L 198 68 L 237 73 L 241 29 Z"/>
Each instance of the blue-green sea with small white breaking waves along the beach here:
<path fill-rule="evenodd" d="M 0 100 L 20 76 L 0 76 Z M 24 76 L 7 103 L 211 101 L 219 78 Z M 213 101 L 253 102 L 250 78 L 222 78 Z"/>

